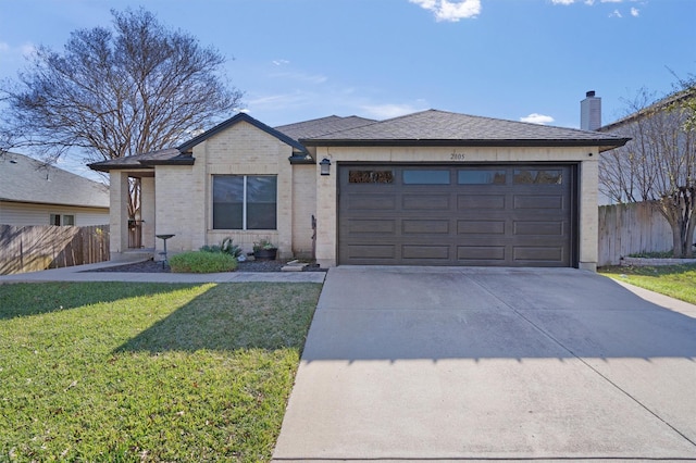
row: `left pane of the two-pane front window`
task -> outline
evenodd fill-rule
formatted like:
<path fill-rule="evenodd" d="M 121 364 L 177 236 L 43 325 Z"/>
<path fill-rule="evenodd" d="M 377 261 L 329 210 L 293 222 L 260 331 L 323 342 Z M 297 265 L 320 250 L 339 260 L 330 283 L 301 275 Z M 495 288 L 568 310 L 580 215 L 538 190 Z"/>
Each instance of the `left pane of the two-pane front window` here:
<path fill-rule="evenodd" d="M 213 228 L 241 229 L 244 176 L 213 176 Z"/>

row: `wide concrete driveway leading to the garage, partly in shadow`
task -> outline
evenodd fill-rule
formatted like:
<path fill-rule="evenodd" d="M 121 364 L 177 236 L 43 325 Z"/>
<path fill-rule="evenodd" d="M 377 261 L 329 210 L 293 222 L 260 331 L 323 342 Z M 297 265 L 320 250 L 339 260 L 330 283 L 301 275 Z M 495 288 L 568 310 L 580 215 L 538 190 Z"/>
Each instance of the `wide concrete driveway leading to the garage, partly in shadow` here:
<path fill-rule="evenodd" d="M 572 268 L 332 268 L 274 460 L 696 460 L 696 308 L 655 302 Z"/>

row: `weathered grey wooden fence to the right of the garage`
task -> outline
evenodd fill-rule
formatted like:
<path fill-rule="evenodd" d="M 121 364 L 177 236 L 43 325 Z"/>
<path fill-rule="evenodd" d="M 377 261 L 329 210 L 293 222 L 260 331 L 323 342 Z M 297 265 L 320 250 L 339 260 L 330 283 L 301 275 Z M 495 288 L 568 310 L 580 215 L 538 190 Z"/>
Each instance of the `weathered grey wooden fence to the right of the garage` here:
<path fill-rule="evenodd" d="M 672 247 L 670 225 L 649 203 L 599 207 L 597 265 L 618 265 L 629 254 L 670 251 Z"/>

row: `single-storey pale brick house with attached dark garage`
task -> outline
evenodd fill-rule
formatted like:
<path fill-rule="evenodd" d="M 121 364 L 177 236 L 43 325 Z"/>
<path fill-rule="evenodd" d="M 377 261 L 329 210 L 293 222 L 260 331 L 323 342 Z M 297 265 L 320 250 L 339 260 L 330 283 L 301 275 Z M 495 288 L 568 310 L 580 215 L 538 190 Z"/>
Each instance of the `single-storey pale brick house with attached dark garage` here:
<path fill-rule="evenodd" d="M 626 139 L 422 111 L 272 128 L 248 114 L 171 149 L 91 164 L 111 176 L 111 255 L 127 251 L 128 177 L 145 247 L 225 237 L 322 266 L 597 262 L 597 160 Z M 313 225 L 315 224 L 315 229 Z"/>

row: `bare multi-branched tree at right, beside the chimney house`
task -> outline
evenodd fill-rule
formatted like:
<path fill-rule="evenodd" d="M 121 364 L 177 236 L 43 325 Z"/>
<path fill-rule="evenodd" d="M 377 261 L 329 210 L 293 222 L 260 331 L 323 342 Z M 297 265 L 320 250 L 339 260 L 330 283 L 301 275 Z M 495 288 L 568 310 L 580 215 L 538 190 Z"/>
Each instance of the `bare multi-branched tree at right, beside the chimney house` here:
<path fill-rule="evenodd" d="M 629 103 L 629 116 L 604 127 L 632 140 L 602 153 L 599 188 L 620 203 L 651 203 L 672 228 L 674 256 L 691 258 L 696 226 L 696 87 L 650 101 L 643 90 Z"/>

